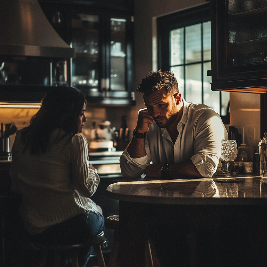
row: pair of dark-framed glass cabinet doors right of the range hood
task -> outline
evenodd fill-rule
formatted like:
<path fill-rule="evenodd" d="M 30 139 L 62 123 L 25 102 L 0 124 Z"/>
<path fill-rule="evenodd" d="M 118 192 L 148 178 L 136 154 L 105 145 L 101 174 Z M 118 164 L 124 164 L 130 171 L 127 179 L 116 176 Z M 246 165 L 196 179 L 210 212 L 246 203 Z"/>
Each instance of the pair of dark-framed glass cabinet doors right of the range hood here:
<path fill-rule="evenodd" d="M 99 103 L 125 103 L 132 94 L 132 48 L 127 16 L 71 14 L 72 86 Z M 128 48 L 128 49 L 127 49 Z M 116 99 L 116 100 L 115 100 Z"/>

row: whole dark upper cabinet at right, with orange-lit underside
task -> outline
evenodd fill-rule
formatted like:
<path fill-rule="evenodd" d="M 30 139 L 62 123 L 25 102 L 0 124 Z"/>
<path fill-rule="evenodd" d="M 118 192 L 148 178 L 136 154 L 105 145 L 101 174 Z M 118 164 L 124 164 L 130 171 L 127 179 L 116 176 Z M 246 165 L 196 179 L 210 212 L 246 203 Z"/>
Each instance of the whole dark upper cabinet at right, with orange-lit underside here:
<path fill-rule="evenodd" d="M 267 1 L 210 5 L 211 90 L 267 92 Z"/>

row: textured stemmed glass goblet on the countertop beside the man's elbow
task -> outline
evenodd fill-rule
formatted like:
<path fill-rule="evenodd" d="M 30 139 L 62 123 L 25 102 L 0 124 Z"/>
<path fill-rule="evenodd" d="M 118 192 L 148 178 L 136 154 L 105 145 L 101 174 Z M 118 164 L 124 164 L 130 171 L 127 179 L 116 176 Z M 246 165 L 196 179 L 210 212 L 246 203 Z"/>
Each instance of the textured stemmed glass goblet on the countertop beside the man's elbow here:
<path fill-rule="evenodd" d="M 227 165 L 226 177 L 230 177 L 229 162 L 237 157 L 237 144 L 235 140 L 222 140 L 221 142 L 221 158 L 225 160 Z"/>

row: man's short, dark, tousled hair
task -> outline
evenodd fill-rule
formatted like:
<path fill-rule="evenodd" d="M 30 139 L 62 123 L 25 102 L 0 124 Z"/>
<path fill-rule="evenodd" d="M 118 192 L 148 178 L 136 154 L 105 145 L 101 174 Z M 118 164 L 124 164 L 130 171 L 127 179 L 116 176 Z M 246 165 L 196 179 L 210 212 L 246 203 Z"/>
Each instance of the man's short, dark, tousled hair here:
<path fill-rule="evenodd" d="M 148 72 L 147 77 L 142 79 L 136 92 L 151 95 L 156 90 L 166 90 L 167 95 L 178 93 L 178 84 L 173 73 L 170 71 Z"/>

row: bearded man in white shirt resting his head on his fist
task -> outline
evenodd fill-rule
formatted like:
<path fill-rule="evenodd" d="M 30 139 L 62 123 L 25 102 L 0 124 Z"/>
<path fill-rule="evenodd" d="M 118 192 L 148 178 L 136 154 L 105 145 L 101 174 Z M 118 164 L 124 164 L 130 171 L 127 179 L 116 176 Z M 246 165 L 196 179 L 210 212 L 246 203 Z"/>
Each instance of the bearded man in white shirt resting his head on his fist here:
<path fill-rule="evenodd" d="M 147 109 L 139 112 L 133 138 L 120 158 L 127 178 L 211 177 L 222 139 L 228 133 L 219 114 L 204 104 L 187 103 L 171 72 L 150 72 L 137 92 Z M 153 163 L 153 164 L 151 164 Z"/>

